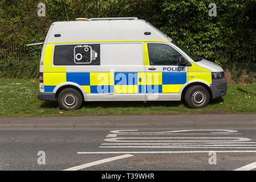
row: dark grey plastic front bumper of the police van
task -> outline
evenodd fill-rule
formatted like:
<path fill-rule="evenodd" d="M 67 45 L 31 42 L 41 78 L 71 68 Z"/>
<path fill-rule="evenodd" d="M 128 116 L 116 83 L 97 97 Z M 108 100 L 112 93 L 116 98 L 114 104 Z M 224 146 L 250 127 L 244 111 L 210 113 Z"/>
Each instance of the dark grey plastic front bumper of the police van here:
<path fill-rule="evenodd" d="M 212 98 L 218 98 L 225 96 L 227 93 L 227 80 L 226 78 L 222 79 L 212 79 L 212 85 L 210 86 L 212 90 Z"/>

